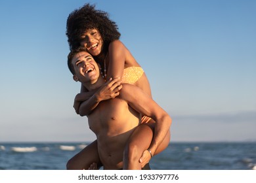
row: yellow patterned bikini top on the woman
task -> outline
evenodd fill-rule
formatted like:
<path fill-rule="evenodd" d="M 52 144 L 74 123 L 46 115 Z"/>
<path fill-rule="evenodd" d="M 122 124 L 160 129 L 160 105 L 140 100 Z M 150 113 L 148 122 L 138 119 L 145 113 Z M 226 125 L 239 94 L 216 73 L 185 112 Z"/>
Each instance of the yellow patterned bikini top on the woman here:
<path fill-rule="evenodd" d="M 123 69 L 123 77 L 121 82 L 134 84 L 143 75 L 144 71 L 141 67 L 127 67 Z"/>

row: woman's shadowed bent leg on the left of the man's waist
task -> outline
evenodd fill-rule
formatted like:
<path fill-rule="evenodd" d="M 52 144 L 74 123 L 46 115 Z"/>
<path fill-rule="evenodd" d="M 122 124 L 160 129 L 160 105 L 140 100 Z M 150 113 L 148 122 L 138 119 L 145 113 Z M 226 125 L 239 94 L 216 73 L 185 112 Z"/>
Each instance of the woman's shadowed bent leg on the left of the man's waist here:
<path fill-rule="evenodd" d="M 93 163 L 96 163 L 97 167 L 102 166 L 100 157 L 98 156 L 98 144 L 96 140 L 68 160 L 66 167 L 68 170 L 87 170 Z"/>

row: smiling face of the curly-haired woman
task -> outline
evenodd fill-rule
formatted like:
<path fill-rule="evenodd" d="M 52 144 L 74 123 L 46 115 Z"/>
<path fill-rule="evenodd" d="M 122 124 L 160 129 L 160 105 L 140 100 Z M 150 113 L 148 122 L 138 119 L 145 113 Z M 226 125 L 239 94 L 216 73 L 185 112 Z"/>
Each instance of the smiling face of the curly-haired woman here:
<path fill-rule="evenodd" d="M 85 47 L 92 56 L 98 56 L 103 48 L 103 40 L 97 29 L 88 29 L 81 35 L 80 45 Z"/>

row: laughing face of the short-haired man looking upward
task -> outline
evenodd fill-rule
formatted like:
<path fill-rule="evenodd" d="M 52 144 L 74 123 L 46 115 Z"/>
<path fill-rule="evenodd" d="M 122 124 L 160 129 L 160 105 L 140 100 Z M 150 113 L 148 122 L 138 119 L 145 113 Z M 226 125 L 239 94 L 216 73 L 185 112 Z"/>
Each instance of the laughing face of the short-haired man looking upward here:
<path fill-rule="evenodd" d="M 80 82 L 91 82 L 95 83 L 100 76 L 100 71 L 98 65 L 87 52 L 79 52 L 72 59 L 72 65 L 75 69 L 74 80 L 79 80 Z"/>

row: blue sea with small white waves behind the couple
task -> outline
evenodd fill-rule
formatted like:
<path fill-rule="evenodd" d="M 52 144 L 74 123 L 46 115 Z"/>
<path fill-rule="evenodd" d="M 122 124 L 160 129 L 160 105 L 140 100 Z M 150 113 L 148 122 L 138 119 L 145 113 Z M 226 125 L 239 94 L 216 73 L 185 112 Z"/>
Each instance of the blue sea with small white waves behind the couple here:
<path fill-rule="evenodd" d="M 65 170 L 87 143 L 1 143 L 0 170 Z M 256 142 L 171 142 L 152 170 L 256 170 Z"/>

